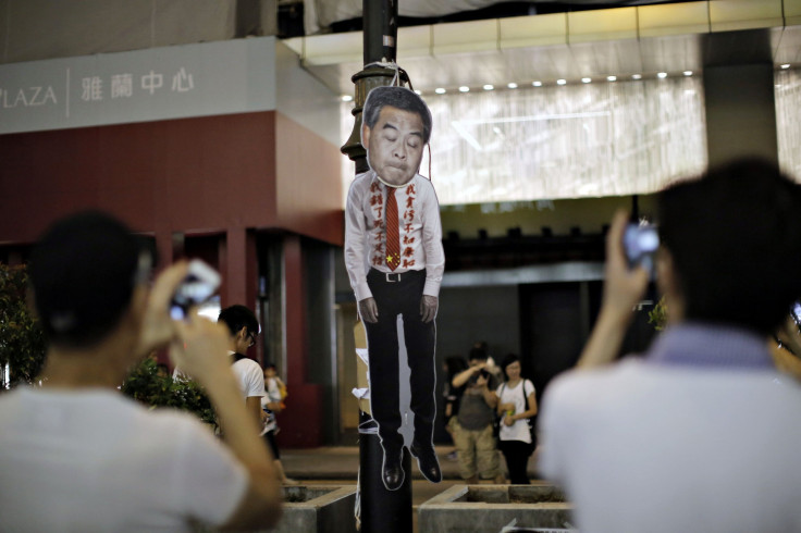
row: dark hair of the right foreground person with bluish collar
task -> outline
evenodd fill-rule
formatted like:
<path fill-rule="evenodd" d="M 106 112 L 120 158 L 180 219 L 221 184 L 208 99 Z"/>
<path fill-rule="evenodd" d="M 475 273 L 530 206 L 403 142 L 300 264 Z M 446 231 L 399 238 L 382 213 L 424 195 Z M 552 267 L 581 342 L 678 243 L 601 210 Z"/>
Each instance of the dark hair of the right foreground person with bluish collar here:
<path fill-rule="evenodd" d="M 686 319 L 767 334 L 801 295 L 801 186 L 744 159 L 658 197 Z"/>

